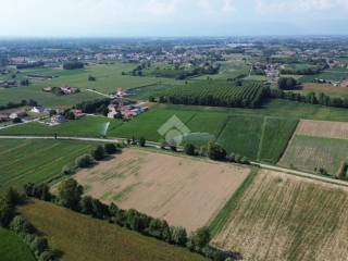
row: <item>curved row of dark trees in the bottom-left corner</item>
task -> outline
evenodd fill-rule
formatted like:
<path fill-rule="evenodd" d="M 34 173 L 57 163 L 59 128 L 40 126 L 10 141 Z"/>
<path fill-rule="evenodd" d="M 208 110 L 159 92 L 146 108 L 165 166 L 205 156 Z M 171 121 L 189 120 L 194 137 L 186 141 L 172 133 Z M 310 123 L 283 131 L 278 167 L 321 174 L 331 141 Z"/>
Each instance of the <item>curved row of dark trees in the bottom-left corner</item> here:
<path fill-rule="evenodd" d="M 0 226 L 10 228 L 28 245 L 39 261 L 58 260 L 57 251 L 49 247 L 47 238 L 40 236 L 33 224 L 24 216 L 16 214 L 15 208 L 26 202 L 25 195 L 15 189 L 8 189 L 0 196 Z"/>

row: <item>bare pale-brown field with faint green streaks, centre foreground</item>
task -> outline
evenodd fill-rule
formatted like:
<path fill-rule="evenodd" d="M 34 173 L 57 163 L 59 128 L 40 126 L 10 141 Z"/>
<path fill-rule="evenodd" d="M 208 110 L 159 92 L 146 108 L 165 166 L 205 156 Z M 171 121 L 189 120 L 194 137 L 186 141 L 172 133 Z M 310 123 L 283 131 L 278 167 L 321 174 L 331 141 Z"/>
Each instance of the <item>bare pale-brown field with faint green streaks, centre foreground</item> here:
<path fill-rule="evenodd" d="M 249 172 L 246 166 L 127 149 L 75 179 L 103 202 L 194 231 L 208 225 Z"/>

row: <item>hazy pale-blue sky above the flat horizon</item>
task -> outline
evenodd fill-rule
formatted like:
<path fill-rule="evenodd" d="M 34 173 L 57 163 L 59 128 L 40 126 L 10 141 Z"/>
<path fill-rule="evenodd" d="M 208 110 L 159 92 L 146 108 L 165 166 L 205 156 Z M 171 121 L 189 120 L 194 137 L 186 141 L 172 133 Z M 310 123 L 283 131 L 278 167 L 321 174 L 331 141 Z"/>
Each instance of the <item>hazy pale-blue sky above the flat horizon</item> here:
<path fill-rule="evenodd" d="M 348 0 L 0 0 L 0 37 L 348 35 Z"/>

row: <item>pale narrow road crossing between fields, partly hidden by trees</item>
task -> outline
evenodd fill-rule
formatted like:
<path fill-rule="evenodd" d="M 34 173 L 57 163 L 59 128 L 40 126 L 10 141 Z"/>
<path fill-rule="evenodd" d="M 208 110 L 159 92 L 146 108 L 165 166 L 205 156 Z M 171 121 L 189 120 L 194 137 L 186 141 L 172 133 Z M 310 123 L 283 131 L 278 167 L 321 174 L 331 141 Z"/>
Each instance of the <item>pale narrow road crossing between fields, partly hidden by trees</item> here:
<path fill-rule="evenodd" d="M 0 136 L 0 139 L 55 139 L 54 136 Z M 127 139 L 125 138 L 88 138 L 88 137 L 71 137 L 71 136 L 58 136 L 58 140 L 80 140 L 80 141 L 94 141 L 94 142 L 123 142 Z M 148 147 L 160 149 L 161 146 L 158 142 L 147 141 L 146 145 Z M 348 182 L 334 179 L 330 177 L 319 176 L 307 172 L 295 171 L 286 167 L 275 166 L 275 165 L 268 165 L 259 162 L 251 162 L 252 165 L 259 166 L 261 169 L 283 172 L 285 174 L 307 177 L 315 181 L 321 181 L 325 183 L 331 183 L 339 186 L 348 187 Z"/>

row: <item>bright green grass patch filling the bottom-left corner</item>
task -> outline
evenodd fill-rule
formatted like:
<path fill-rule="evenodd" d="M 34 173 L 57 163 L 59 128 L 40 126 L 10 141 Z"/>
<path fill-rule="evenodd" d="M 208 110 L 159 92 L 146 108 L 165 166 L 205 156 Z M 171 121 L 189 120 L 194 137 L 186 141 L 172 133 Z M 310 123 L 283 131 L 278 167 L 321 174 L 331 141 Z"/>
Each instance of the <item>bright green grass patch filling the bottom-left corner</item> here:
<path fill-rule="evenodd" d="M 12 232 L 0 227 L 1 261 L 35 261 L 34 254 L 25 243 Z"/>

